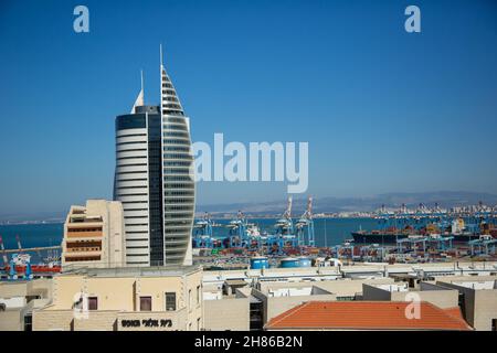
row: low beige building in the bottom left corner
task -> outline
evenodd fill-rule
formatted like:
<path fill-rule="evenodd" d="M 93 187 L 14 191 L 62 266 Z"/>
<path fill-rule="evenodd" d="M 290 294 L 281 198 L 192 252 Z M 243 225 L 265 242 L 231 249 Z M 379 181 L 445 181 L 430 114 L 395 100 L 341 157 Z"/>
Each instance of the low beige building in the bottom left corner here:
<path fill-rule="evenodd" d="M 51 279 L 0 282 L 0 331 L 31 331 L 33 310 L 51 298 Z"/>

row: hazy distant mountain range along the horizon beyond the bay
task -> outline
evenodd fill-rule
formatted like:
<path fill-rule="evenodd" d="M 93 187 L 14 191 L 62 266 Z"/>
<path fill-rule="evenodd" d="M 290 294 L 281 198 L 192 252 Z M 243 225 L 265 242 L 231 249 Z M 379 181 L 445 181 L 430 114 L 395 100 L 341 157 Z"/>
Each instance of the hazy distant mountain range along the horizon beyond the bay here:
<path fill-rule="evenodd" d="M 381 205 L 400 207 L 404 203 L 408 207 L 416 207 L 420 203 L 433 206 L 438 203 L 441 207 L 475 205 L 478 202 L 486 205 L 496 205 L 497 195 L 480 192 L 438 191 L 417 193 L 385 193 L 370 197 L 314 197 L 314 213 L 340 212 L 371 212 Z M 294 196 L 293 214 L 300 215 L 307 204 L 305 196 Z M 251 215 L 278 215 L 286 208 L 286 200 L 254 203 L 226 203 L 197 205 L 197 213 L 209 212 L 214 215 L 235 214 L 239 210 Z M 1 223 L 23 222 L 63 222 L 65 212 L 40 212 L 36 214 L 3 214 Z"/>

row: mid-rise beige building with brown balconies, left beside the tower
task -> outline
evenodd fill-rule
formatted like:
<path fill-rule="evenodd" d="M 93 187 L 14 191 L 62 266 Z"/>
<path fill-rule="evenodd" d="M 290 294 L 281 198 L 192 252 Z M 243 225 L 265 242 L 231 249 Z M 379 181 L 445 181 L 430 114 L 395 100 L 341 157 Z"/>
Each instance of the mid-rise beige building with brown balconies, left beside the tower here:
<path fill-rule="evenodd" d="M 71 206 L 64 224 L 62 270 L 125 266 L 124 236 L 120 202 L 88 200 L 86 206 Z"/>

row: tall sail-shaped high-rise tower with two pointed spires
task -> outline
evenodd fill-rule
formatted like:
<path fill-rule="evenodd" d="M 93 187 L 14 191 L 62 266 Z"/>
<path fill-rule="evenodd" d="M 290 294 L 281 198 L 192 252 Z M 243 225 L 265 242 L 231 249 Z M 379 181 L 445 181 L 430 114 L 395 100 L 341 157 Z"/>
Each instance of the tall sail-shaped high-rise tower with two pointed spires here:
<path fill-rule="evenodd" d="M 114 199 L 123 203 L 129 266 L 191 265 L 195 185 L 189 118 L 160 53 L 160 107 L 144 88 L 116 118 Z"/>

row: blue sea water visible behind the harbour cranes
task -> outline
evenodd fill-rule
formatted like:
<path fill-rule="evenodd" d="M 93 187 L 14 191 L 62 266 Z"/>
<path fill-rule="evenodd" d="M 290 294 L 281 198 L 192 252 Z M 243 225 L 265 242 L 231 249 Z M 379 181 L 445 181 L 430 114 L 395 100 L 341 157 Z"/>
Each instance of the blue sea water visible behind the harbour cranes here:
<path fill-rule="evenodd" d="M 214 227 L 215 237 L 228 235 L 228 225 L 231 220 L 213 220 L 222 226 Z M 262 232 L 274 233 L 274 218 L 250 218 L 250 223 L 256 224 Z M 373 218 L 316 218 L 314 229 L 316 246 L 334 246 L 351 238 L 350 233 L 364 229 L 372 231 L 377 227 Z M 64 225 L 62 223 L 47 224 L 19 224 L 0 225 L 0 236 L 3 238 L 6 248 L 18 248 L 17 236 L 23 248 L 55 246 L 62 243 Z"/>

